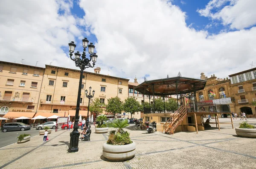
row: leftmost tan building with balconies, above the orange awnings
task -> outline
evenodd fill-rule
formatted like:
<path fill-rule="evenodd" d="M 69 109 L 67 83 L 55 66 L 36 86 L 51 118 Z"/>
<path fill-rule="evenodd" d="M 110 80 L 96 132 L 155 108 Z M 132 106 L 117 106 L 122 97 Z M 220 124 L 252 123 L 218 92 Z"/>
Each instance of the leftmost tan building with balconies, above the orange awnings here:
<path fill-rule="evenodd" d="M 33 117 L 44 68 L 0 61 L 0 117 Z"/>

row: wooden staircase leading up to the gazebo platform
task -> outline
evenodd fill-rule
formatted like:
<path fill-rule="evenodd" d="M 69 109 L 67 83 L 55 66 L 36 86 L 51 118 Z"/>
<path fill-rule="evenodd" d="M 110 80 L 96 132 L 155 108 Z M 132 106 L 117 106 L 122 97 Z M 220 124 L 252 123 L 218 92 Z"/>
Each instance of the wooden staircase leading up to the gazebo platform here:
<path fill-rule="evenodd" d="M 186 106 L 180 106 L 173 115 L 166 121 L 163 125 L 163 130 L 165 133 L 169 133 L 170 135 L 174 134 L 175 129 L 180 125 L 180 122 L 187 116 Z"/>

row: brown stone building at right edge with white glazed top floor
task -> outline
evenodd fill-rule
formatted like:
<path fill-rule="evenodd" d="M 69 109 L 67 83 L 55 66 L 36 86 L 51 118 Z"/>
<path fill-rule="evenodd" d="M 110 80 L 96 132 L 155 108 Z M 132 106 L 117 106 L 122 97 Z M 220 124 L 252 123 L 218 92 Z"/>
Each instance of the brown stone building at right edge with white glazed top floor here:
<path fill-rule="evenodd" d="M 230 91 L 235 98 L 235 111 L 256 115 L 252 101 L 256 101 L 256 68 L 230 74 Z"/>

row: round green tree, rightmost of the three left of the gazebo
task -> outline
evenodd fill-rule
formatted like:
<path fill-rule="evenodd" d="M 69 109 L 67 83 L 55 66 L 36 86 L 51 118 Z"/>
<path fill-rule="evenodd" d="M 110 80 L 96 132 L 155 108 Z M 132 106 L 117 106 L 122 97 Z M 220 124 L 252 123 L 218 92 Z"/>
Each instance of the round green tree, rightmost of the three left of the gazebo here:
<path fill-rule="evenodd" d="M 141 104 L 134 97 L 128 97 L 123 104 L 123 110 L 131 113 L 132 116 L 135 112 L 141 111 Z"/>

